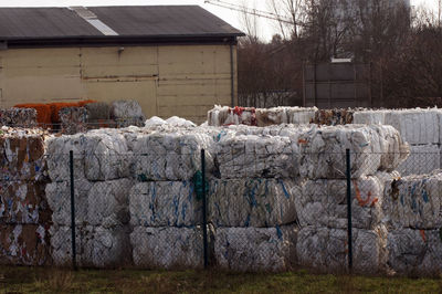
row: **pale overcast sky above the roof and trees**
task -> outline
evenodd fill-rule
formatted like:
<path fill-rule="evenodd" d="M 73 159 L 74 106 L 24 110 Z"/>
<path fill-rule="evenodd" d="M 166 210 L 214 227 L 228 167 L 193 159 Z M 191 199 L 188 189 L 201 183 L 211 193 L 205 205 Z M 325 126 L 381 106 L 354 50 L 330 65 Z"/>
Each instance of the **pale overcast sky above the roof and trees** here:
<path fill-rule="evenodd" d="M 244 1 L 249 7 L 266 11 L 266 0 L 223 0 L 230 3 L 242 3 Z M 438 0 L 411 0 L 412 6 L 427 6 L 435 8 Z M 204 0 L 0 0 L 0 7 L 73 7 L 73 6 L 169 6 L 169 4 L 197 4 L 217 14 L 224 21 L 238 29 L 242 28 L 239 13 L 225 8 L 220 8 L 204 3 Z M 260 20 L 259 33 L 263 39 L 271 39 L 277 32 L 277 27 L 273 21 Z"/>

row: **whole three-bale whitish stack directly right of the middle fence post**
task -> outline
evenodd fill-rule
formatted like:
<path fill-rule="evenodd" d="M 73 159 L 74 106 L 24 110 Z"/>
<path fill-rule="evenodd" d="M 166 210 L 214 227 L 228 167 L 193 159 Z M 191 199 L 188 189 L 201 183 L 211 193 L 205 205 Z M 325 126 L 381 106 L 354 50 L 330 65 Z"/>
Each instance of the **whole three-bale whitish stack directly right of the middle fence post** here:
<path fill-rule="evenodd" d="M 224 270 L 284 271 L 296 263 L 293 188 L 301 129 L 287 129 L 286 136 L 277 127 L 242 130 L 228 128 L 214 136 L 208 193 L 214 260 Z"/>

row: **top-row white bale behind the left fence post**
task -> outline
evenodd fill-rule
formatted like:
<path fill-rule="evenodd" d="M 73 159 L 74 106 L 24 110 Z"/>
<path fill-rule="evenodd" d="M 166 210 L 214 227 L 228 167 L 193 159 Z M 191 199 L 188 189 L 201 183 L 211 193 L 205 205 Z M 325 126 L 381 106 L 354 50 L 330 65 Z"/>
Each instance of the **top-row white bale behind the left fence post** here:
<path fill-rule="evenodd" d="M 75 178 L 112 180 L 129 176 L 130 158 L 122 134 L 91 132 L 48 140 L 48 166 L 52 181 L 69 180 L 69 154 L 74 153 Z"/>

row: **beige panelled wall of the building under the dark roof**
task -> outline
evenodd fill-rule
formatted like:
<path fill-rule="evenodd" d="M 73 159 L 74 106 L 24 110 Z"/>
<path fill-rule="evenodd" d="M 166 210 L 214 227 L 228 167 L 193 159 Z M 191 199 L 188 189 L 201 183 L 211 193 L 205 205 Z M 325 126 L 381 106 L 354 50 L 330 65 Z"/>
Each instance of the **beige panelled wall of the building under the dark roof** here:
<path fill-rule="evenodd" d="M 233 52 L 236 97 L 236 48 Z M 0 51 L 0 107 L 136 99 L 147 117 L 178 115 L 201 123 L 213 104 L 231 105 L 230 60 L 229 45 Z"/>

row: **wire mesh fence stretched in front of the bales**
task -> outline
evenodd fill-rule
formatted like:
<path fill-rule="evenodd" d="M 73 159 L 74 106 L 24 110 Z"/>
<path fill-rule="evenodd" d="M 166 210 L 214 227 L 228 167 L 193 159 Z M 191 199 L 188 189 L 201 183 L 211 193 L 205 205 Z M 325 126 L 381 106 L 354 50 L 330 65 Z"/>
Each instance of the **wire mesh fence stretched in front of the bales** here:
<path fill-rule="evenodd" d="M 348 178 L 341 151 L 223 146 L 206 151 L 202 172 L 189 146 L 2 156 L 0 262 L 71 266 L 74 213 L 78 266 L 202 269 L 207 248 L 209 265 L 231 271 L 345 270 L 349 181 L 356 270 L 438 266 L 439 154 L 400 164 L 401 154 L 350 153 Z"/>

